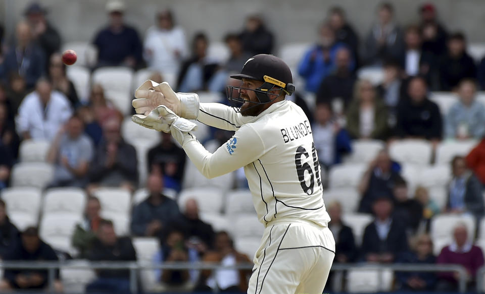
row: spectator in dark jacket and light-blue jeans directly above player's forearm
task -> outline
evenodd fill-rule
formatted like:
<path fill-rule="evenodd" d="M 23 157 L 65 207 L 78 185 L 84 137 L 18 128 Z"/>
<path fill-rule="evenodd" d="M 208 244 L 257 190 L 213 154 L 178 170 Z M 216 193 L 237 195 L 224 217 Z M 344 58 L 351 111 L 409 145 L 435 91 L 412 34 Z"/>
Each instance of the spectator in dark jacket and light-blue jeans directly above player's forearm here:
<path fill-rule="evenodd" d="M 209 40 L 204 33 L 197 33 L 192 40 L 192 56 L 184 61 L 178 74 L 180 92 L 204 91 L 219 67 L 218 62 L 207 55 Z"/>

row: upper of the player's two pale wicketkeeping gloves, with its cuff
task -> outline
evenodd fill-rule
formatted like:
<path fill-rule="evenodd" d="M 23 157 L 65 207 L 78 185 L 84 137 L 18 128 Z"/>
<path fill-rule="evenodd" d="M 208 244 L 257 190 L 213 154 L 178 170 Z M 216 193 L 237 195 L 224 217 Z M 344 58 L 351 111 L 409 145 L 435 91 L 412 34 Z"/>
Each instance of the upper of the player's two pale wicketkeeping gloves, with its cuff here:
<path fill-rule="evenodd" d="M 176 115 L 189 120 L 199 114 L 199 95 L 195 93 L 175 93 L 167 82 L 161 84 L 152 80 L 144 81 L 135 91 L 131 104 L 136 113 L 149 115 L 159 105 L 166 105 Z"/>

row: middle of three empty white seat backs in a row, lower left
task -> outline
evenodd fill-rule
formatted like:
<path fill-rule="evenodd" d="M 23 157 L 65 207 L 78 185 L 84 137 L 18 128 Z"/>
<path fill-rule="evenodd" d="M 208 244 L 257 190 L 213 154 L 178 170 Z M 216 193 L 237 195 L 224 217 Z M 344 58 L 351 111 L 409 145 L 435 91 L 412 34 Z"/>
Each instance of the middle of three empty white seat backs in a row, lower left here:
<path fill-rule="evenodd" d="M 80 188 L 54 188 L 45 192 L 43 198 L 44 214 L 71 212 L 82 215 L 87 195 Z"/>

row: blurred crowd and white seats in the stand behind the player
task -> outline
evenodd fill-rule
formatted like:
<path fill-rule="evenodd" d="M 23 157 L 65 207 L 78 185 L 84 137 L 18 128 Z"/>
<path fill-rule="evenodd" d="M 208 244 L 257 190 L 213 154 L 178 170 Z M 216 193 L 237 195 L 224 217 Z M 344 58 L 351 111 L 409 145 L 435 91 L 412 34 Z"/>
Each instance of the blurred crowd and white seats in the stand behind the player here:
<path fill-rule="evenodd" d="M 312 124 L 334 262 L 460 264 L 474 289 L 485 249 L 485 46 L 449 30 L 437 7 L 423 3 L 418 22 L 398 23 L 381 3 L 359 35 L 335 6 L 308 28 L 316 39 L 280 48 L 264 14 L 211 43 L 204 31 L 188 38 L 184 20 L 162 5 L 146 32 L 125 21 L 123 2 L 105 9 L 107 24 L 90 42 L 63 42 L 38 2 L 12 38 L 0 27 L 3 260 L 250 263 L 262 226 L 244 171 L 204 179 L 169 134 L 129 116 L 146 79 L 227 103 L 225 86 L 239 83 L 228 76 L 272 53 L 292 68 L 297 92 L 287 99 Z M 63 65 L 64 49 L 77 51 L 74 66 Z M 232 134 L 201 125 L 196 135 L 214 151 Z M 140 281 L 147 290 L 244 292 L 250 274 L 147 271 Z M 69 279 L 56 278 L 68 290 Z M 391 272 L 384 283 L 444 292 L 457 281 L 456 272 Z M 5 269 L 0 289 L 46 282 L 46 271 Z M 332 274 L 327 287 L 359 283 L 358 273 Z M 127 292 L 129 273 L 99 270 L 84 286 Z"/>

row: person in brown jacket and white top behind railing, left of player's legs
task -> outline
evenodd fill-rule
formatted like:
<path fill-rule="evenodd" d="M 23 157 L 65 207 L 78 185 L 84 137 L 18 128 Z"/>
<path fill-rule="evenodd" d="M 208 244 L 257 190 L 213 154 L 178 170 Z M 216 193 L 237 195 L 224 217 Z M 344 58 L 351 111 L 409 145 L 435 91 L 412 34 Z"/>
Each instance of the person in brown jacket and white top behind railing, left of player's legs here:
<path fill-rule="evenodd" d="M 217 262 L 225 266 L 238 263 L 250 263 L 249 258 L 234 249 L 234 244 L 229 234 L 220 231 L 216 234 L 215 250 L 204 255 L 204 262 Z M 248 270 L 203 270 L 195 291 L 217 290 L 222 292 L 245 292 L 248 290 Z"/>

